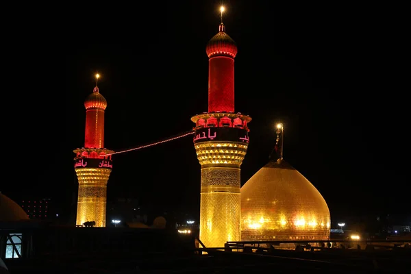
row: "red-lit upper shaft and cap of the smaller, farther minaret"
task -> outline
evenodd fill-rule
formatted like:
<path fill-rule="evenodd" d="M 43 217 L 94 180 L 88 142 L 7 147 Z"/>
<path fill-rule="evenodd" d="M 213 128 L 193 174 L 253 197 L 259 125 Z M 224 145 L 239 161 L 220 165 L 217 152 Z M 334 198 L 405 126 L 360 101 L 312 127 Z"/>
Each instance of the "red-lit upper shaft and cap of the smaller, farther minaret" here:
<path fill-rule="evenodd" d="M 99 88 L 95 86 L 92 94 L 88 95 L 84 101 L 86 107 L 86 134 L 84 147 L 103 148 L 104 147 L 104 110 L 107 108 L 107 101 L 100 94 Z"/>

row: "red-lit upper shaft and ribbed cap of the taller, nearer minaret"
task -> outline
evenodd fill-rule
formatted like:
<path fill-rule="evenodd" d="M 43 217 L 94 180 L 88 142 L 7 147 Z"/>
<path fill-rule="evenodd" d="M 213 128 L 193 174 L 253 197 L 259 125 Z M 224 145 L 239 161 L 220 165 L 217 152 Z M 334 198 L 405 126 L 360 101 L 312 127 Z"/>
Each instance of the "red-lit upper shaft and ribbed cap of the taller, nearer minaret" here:
<path fill-rule="evenodd" d="M 206 47 L 208 55 L 208 112 L 234 112 L 234 58 L 236 42 L 223 23 Z"/>

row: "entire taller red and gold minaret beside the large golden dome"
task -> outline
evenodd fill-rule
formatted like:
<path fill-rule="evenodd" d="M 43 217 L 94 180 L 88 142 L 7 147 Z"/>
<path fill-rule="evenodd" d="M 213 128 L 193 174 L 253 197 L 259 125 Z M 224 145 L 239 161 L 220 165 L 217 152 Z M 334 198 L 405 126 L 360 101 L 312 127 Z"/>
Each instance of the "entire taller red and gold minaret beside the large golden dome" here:
<path fill-rule="evenodd" d="M 221 7 L 221 18 L 223 17 Z M 241 240 L 240 165 L 249 144 L 251 117 L 234 113 L 236 43 L 223 20 L 206 47 L 208 112 L 193 116 L 194 145 L 201 164 L 200 240 L 206 247 L 224 247 Z"/>

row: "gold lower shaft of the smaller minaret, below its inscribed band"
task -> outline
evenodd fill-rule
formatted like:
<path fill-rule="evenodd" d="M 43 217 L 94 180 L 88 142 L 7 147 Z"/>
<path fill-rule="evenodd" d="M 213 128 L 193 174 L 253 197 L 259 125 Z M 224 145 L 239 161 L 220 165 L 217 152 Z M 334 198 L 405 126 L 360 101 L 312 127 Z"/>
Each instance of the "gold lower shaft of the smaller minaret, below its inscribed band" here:
<path fill-rule="evenodd" d="M 107 182 L 111 169 L 75 169 L 79 181 L 76 225 L 95 221 L 95 227 L 105 227 Z"/>

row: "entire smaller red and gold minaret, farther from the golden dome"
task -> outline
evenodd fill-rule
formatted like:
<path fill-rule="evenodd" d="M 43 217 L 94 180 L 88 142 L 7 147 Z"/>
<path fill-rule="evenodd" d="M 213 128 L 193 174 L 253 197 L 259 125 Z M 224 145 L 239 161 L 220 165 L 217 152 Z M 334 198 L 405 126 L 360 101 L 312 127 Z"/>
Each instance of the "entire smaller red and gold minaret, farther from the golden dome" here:
<path fill-rule="evenodd" d="M 112 171 L 110 151 L 104 148 L 104 110 L 107 101 L 96 86 L 88 95 L 86 107 L 86 134 L 84 147 L 75 149 L 74 168 L 79 181 L 76 225 L 95 221 L 96 227 L 105 227 L 107 182 Z M 109 155 L 108 155 L 109 154 Z"/>

